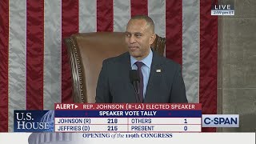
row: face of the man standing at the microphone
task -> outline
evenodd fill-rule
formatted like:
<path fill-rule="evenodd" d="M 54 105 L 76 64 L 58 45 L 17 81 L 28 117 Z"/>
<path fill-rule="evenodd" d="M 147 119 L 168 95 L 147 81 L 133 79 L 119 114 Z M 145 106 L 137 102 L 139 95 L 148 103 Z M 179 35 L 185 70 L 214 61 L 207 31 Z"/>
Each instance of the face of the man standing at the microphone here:
<path fill-rule="evenodd" d="M 144 19 L 132 19 L 126 27 L 126 44 L 131 56 L 142 60 L 150 53 L 155 34 Z"/>

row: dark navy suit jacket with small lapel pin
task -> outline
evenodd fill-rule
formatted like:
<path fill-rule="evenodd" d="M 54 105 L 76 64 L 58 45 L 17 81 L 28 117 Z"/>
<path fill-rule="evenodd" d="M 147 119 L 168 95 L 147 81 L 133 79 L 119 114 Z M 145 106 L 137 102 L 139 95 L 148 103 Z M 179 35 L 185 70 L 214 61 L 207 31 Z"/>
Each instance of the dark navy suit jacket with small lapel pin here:
<path fill-rule="evenodd" d="M 102 63 L 96 90 L 97 103 L 135 103 L 136 94 L 130 82 L 130 54 L 108 58 Z M 161 72 L 157 72 L 161 70 Z M 178 63 L 153 51 L 145 103 L 186 103 L 186 90 Z"/>

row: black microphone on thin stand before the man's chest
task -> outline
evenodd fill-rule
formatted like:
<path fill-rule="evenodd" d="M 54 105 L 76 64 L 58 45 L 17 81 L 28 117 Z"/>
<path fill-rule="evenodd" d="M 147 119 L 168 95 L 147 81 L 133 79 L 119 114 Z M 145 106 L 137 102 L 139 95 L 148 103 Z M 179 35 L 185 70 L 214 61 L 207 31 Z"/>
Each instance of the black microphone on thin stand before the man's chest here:
<path fill-rule="evenodd" d="M 138 95 L 138 93 L 139 93 L 139 89 L 138 89 L 139 80 L 140 80 L 140 78 L 139 78 L 138 70 L 130 70 L 130 82 L 134 86 L 137 102 L 140 102 L 140 98 L 139 98 L 139 95 Z"/>

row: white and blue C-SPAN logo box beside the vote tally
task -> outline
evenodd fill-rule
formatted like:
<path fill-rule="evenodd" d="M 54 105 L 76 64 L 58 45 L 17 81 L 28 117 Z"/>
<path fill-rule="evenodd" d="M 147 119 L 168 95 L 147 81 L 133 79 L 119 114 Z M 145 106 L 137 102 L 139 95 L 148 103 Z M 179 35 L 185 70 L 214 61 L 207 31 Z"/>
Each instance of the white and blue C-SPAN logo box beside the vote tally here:
<path fill-rule="evenodd" d="M 239 114 L 202 114 L 202 127 L 239 127 Z"/>

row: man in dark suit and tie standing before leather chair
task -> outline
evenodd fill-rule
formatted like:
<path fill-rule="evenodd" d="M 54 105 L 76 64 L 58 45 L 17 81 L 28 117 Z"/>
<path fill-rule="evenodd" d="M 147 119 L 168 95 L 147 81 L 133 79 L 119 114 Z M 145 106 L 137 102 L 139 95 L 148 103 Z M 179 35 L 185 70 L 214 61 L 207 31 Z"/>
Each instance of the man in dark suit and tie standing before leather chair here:
<path fill-rule="evenodd" d="M 151 50 L 154 22 L 135 16 L 126 26 L 128 52 L 102 63 L 96 90 L 97 103 L 187 102 L 181 66 Z M 130 82 L 130 70 L 138 70 L 138 89 Z"/>

